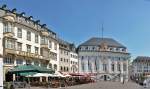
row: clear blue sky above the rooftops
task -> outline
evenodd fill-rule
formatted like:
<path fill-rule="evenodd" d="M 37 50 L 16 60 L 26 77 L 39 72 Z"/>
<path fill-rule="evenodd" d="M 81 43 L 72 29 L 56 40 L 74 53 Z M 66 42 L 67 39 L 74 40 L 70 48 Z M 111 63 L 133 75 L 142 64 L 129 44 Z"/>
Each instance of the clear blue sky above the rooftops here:
<path fill-rule="evenodd" d="M 150 56 L 150 0 L 0 0 L 26 12 L 57 35 L 79 45 L 91 37 L 113 38 L 132 58 Z"/>

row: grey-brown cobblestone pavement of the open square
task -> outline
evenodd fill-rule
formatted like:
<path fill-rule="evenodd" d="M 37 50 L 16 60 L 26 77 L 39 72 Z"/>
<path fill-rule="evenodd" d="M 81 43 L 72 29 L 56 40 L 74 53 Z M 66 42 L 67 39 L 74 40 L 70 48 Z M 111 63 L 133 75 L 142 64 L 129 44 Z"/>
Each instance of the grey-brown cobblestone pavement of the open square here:
<path fill-rule="evenodd" d="M 25 89 L 29 89 L 29 88 L 25 88 Z M 150 88 L 144 88 L 133 82 L 128 82 L 125 84 L 122 84 L 120 82 L 97 82 L 97 83 L 89 83 L 89 84 L 83 84 L 83 85 L 77 85 L 71 87 L 62 87 L 62 88 L 31 87 L 30 89 L 150 89 Z"/>

